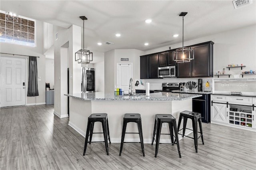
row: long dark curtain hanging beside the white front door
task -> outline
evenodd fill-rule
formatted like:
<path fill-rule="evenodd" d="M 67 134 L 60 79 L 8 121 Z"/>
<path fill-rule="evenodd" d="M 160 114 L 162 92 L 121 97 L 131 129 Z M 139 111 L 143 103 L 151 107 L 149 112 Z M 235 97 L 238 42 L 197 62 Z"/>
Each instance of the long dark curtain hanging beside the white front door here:
<path fill-rule="evenodd" d="M 38 83 L 37 83 L 37 63 L 36 57 L 29 57 L 28 66 L 28 96 L 38 95 Z"/>

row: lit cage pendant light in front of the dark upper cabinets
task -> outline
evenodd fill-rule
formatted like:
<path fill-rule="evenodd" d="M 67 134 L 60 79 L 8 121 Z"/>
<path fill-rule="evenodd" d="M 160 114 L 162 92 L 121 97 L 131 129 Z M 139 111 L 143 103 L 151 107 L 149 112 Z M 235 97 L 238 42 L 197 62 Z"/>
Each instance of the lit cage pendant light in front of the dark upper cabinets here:
<path fill-rule="evenodd" d="M 176 51 L 172 52 L 173 60 L 176 63 L 188 63 L 192 59 L 194 59 L 194 49 L 190 49 L 190 47 L 184 47 L 184 16 L 186 16 L 188 12 L 181 12 L 180 16 L 182 16 L 182 48 L 176 49 Z"/>

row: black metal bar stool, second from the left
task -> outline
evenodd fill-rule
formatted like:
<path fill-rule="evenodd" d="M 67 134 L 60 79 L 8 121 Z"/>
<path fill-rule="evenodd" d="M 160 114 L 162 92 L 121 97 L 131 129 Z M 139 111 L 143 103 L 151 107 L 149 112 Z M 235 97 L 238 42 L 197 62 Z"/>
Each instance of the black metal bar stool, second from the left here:
<path fill-rule="evenodd" d="M 135 122 L 135 123 L 138 124 L 138 131 L 139 131 L 138 133 L 126 132 L 126 125 L 127 125 L 127 123 L 129 123 L 129 122 Z M 139 135 L 140 135 L 140 142 L 124 142 L 124 136 L 125 136 L 126 133 L 130 133 L 130 134 L 139 134 Z M 140 114 L 136 114 L 136 113 L 134 113 L 134 114 L 128 114 L 128 113 L 126 113 L 126 114 L 124 114 L 123 130 L 122 130 L 122 139 L 121 139 L 121 146 L 120 146 L 120 154 L 119 154 L 119 156 L 121 156 L 121 154 L 122 154 L 122 150 L 123 150 L 124 143 L 140 143 L 143 156 L 145 156 Z"/>

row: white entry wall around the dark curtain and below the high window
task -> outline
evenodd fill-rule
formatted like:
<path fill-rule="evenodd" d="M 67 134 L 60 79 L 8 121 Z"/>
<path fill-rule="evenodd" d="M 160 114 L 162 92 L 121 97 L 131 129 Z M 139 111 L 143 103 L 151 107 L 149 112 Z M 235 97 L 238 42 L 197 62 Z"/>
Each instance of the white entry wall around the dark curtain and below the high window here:
<path fill-rule="evenodd" d="M 12 54 L 31 55 L 31 56 L 40 57 L 40 58 L 37 58 L 37 73 L 38 73 L 38 77 L 41 77 L 41 81 L 38 81 L 39 96 L 26 97 L 27 105 L 36 105 L 36 104 L 45 103 L 45 56 L 43 55 L 42 32 L 43 32 L 43 22 L 36 21 L 36 47 L 28 47 L 25 45 L 0 42 L 1 53 L 12 53 Z M 28 73 L 26 76 L 28 77 Z M 26 84 L 28 84 L 28 82 L 26 82 Z M 28 87 L 26 87 L 26 91 L 27 91 L 27 88 Z"/>

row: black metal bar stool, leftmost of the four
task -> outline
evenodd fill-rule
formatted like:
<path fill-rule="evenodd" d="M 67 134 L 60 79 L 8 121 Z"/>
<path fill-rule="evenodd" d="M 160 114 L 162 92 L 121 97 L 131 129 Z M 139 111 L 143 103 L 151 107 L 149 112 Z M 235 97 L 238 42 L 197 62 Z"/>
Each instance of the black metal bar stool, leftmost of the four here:
<path fill-rule="evenodd" d="M 86 152 L 89 136 L 90 136 L 89 144 L 91 144 L 91 142 L 92 142 L 92 134 L 94 134 L 93 128 L 94 128 L 94 123 L 95 122 L 101 122 L 102 123 L 103 132 L 96 132 L 96 133 L 103 133 L 104 141 L 97 141 L 97 142 L 105 142 L 106 152 L 107 152 L 107 155 L 108 155 L 108 140 L 109 140 L 109 143 L 111 143 L 111 142 L 110 142 L 109 128 L 108 128 L 108 114 L 106 114 L 106 113 L 92 114 L 88 117 L 85 143 L 84 143 L 84 155 L 85 155 L 85 152 Z"/>

